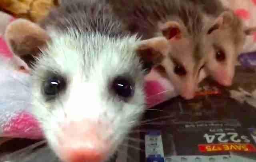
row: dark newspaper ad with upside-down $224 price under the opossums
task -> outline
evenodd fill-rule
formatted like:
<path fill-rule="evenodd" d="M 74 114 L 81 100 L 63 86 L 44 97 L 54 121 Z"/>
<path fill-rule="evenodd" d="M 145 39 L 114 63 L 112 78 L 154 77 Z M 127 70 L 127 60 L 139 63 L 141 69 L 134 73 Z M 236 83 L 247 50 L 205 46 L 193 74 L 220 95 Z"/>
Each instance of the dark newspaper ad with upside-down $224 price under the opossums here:
<path fill-rule="evenodd" d="M 140 161 L 255 162 L 255 74 L 238 66 L 232 87 L 208 79 L 195 99 L 176 97 L 147 111 Z"/>

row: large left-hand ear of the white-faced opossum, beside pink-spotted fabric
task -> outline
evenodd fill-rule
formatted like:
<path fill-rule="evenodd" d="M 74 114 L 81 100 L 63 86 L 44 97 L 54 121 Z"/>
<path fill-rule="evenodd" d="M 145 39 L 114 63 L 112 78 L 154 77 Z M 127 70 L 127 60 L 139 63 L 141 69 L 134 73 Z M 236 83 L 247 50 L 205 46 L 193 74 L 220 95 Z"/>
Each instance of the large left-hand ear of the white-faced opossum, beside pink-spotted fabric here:
<path fill-rule="evenodd" d="M 35 61 L 34 57 L 40 54 L 39 47 L 44 46 L 50 36 L 37 24 L 20 18 L 7 26 L 5 39 L 14 55 L 31 66 Z"/>

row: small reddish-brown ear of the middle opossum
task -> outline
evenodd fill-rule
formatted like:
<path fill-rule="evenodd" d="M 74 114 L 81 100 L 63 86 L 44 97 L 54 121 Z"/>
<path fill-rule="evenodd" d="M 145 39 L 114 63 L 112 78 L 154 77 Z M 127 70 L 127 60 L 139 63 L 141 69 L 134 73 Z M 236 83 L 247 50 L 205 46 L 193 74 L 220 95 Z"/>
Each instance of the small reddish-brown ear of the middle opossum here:
<path fill-rule="evenodd" d="M 169 21 L 159 25 L 159 28 L 167 40 L 182 38 L 182 26 L 178 22 Z"/>

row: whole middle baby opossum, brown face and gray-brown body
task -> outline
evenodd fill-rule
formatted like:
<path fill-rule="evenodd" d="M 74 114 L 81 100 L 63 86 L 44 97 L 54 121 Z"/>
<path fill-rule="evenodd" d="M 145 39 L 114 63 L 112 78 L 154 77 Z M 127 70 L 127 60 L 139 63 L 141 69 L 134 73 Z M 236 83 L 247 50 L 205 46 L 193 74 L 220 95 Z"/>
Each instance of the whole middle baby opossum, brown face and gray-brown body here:
<path fill-rule="evenodd" d="M 199 74 L 207 60 L 206 40 L 212 26 L 201 7 L 190 0 L 108 0 L 113 12 L 123 20 L 123 28 L 143 39 L 164 36 L 168 53 L 160 53 L 156 65 L 179 94 L 191 99 L 198 88 Z M 125 6 L 125 7 L 123 7 Z M 169 47 L 170 46 L 170 47 Z"/>

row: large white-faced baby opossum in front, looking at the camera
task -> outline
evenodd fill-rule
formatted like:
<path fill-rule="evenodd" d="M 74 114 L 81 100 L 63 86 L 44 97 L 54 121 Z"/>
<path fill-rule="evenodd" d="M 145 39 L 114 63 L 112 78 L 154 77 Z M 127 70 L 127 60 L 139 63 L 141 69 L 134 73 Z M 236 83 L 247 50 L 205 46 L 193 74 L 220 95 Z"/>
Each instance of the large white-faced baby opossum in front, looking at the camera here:
<path fill-rule="evenodd" d="M 32 114 L 64 162 L 116 152 L 144 111 L 138 54 L 166 44 L 123 33 L 104 0 L 62 0 L 40 25 L 14 20 L 5 38 L 32 67 Z"/>

